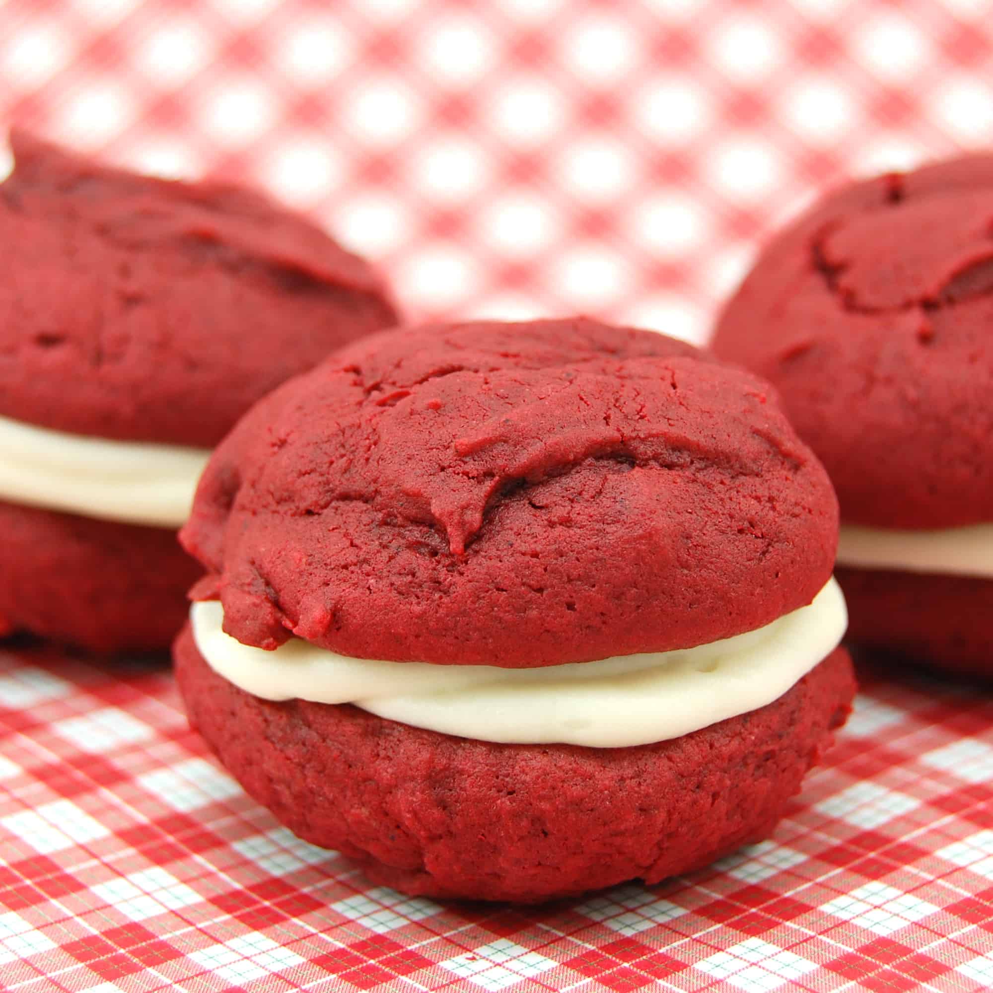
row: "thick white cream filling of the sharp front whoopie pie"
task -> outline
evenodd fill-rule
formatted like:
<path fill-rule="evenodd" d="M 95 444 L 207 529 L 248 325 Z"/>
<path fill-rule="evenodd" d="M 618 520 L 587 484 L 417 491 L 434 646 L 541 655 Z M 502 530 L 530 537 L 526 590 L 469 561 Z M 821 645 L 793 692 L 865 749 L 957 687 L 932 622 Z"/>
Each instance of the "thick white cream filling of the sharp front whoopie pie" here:
<path fill-rule="evenodd" d="M 266 700 L 353 703 L 379 717 L 491 742 L 626 748 L 679 738 L 772 703 L 841 641 L 834 579 L 807 607 L 695 648 L 506 669 L 352 658 L 294 638 L 275 651 L 224 634 L 217 601 L 191 609 L 214 672 Z"/>

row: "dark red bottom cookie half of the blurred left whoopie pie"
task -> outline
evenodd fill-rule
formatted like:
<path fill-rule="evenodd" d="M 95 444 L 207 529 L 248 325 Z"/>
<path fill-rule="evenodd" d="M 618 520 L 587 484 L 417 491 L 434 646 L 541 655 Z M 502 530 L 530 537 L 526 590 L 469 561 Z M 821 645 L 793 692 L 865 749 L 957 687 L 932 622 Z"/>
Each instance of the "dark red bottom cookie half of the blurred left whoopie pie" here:
<path fill-rule="evenodd" d="M 159 651 L 203 570 L 176 532 L 0 502 L 0 618 L 94 652 Z"/>

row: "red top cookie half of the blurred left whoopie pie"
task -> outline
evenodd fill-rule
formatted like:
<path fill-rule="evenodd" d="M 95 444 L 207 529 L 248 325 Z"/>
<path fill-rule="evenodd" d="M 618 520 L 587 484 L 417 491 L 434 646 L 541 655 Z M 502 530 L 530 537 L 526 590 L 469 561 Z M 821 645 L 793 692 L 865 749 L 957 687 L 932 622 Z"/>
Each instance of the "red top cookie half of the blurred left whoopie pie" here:
<path fill-rule="evenodd" d="M 13 131 L 0 414 L 212 446 L 260 396 L 395 323 L 360 258 L 260 194 L 138 176 Z"/>

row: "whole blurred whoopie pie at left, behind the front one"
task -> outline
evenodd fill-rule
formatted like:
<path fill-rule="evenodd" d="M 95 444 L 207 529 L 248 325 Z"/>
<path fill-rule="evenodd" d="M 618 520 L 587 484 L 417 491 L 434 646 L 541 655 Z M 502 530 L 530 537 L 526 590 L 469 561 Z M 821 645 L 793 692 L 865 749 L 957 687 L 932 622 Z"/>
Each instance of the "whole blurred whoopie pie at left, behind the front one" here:
<path fill-rule="evenodd" d="M 210 449 L 287 377 L 395 323 L 373 270 L 259 193 L 11 133 L 0 185 L 0 617 L 161 649 Z"/>

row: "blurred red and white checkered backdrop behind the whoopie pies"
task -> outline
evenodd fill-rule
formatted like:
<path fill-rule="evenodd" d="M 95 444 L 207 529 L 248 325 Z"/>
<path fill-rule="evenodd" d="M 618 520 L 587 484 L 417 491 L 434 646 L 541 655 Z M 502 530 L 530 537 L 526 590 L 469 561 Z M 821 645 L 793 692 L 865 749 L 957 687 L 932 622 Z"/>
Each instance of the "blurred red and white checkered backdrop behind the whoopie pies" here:
<path fill-rule="evenodd" d="M 248 180 L 413 317 L 701 340 L 825 184 L 993 141 L 982 0 L 0 0 L 0 120 Z"/>

